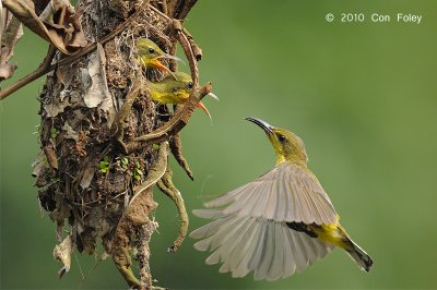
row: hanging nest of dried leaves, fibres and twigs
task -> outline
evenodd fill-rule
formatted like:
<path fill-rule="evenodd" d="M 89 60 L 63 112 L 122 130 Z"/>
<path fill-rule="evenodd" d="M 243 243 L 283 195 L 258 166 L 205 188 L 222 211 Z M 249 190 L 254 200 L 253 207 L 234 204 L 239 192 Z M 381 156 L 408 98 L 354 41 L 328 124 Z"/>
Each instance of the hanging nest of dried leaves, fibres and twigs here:
<path fill-rule="evenodd" d="M 172 152 L 190 173 L 178 132 L 211 87 L 199 88 L 196 62 L 201 50 L 180 24 L 196 1 L 163 2 L 79 1 L 91 52 L 70 56 L 70 61 L 54 53 L 51 65 L 55 65 L 39 95 L 42 152 L 33 176 L 40 207 L 57 225 L 61 243 L 54 254 L 64 265 L 60 276 L 69 270 L 74 247 L 95 254 L 102 242 L 103 254 L 113 256 L 129 286 L 150 288 L 149 241 L 157 222 L 147 216 L 157 206 L 152 195 L 156 183 L 176 203 L 181 221 L 169 251 L 177 250 L 187 232 L 184 201 L 172 183 L 167 155 Z M 141 37 L 172 55 L 179 41 L 189 60 L 193 89 L 174 114 L 149 97 L 147 81 L 165 75 L 145 73 L 139 65 L 134 44 Z M 177 69 L 176 63 L 169 67 Z M 133 252 L 141 282 L 131 270 Z"/>

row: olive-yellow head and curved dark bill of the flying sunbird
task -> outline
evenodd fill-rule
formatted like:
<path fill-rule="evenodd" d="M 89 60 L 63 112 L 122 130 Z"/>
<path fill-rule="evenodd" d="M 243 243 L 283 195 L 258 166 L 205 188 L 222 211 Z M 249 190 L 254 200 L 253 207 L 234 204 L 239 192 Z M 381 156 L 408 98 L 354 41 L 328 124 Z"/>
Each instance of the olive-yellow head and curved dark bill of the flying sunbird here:
<path fill-rule="evenodd" d="M 288 130 L 275 128 L 258 118 L 245 118 L 259 125 L 268 135 L 274 152 L 276 153 L 276 165 L 290 161 L 298 165 L 306 165 L 308 161 L 304 142 Z"/>

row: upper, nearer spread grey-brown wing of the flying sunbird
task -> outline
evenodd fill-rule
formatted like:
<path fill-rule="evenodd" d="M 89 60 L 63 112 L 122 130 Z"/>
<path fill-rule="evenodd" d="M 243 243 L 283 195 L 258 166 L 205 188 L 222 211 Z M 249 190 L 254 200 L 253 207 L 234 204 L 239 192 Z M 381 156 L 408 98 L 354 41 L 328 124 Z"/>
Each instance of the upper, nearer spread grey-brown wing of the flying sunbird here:
<path fill-rule="evenodd" d="M 200 215 L 263 217 L 306 225 L 336 223 L 335 209 L 316 176 L 308 169 L 282 162 L 252 182 L 205 203 Z M 211 212 L 212 210 L 212 212 Z"/>

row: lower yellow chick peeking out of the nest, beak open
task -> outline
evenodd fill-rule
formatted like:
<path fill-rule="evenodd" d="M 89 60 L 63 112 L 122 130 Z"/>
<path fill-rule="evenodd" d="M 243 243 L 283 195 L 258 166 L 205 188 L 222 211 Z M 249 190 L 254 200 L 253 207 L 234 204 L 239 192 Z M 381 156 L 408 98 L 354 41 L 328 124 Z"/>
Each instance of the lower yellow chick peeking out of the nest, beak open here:
<path fill-rule="evenodd" d="M 175 72 L 174 77 L 168 75 L 161 82 L 150 82 L 149 87 L 151 88 L 152 100 L 158 104 L 182 104 L 190 96 L 192 78 L 187 73 Z M 209 95 L 218 99 L 214 94 L 210 93 Z M 198 107 L 211 119 L 211 114 L 202 101 L 198 102 Z"/>

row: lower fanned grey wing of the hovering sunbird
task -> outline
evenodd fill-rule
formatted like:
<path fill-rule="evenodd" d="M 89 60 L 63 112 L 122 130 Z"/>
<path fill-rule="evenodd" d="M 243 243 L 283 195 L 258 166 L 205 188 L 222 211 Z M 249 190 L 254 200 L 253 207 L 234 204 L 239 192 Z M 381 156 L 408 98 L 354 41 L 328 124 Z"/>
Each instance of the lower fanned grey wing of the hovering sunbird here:
<path fill-rule="evenodd" d="M 233 277 L 253 271 L 257 280 L 292 276 L 333 249 L 329 243 L 290 229 L 284 221 L 238 215 L 217 218 L 190 237 L 203 239 L 194 244 L 197 250 L 212 252 L 206 264 L 221 263 L 220 271 L 232 271 Z"/>

